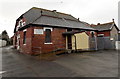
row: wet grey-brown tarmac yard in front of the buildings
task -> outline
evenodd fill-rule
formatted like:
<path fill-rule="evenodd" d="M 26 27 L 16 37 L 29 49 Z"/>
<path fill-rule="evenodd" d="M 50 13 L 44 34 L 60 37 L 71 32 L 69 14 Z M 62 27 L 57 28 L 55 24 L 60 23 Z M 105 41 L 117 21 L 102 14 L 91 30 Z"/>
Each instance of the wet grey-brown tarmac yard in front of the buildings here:
<path fill-rule="evenodd" d="M 2 77 L 118 77 L 116 50 L 64 54 L 53 61 L 19 53 L 11 46 L 1 50 Z"/>

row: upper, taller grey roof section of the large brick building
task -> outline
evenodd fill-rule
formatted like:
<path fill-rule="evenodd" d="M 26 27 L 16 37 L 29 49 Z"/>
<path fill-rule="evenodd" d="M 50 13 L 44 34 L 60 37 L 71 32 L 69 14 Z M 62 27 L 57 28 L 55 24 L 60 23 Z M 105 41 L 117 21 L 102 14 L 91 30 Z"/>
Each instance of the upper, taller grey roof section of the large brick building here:
<path fill-rule="evenodd" d="M 40 18 L 40 16 L 43 15 L 77 21 L 77 19 L 70 14 L 65 14 L 61 12 L 56 12 L 56 11 L 51 11 L 36 7 L 31 8 L 29 11 L 23 14 L 23 16 L 27 19 L 27 24 L 34 22 L 36 19 Z"/>

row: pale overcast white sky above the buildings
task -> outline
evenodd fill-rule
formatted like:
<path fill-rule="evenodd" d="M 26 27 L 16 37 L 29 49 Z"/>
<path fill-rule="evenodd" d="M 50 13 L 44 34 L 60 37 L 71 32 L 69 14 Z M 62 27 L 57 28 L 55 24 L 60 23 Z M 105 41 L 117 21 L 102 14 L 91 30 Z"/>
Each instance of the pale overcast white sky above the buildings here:
<path fill-rule="evenodd" d="M 13 36 L 16 19 L 32 7 L 71 14 L 89 24 L 107 23 L 115 19 L 118 26 L 120 0 L 0 0 L 0 33 Z"/>

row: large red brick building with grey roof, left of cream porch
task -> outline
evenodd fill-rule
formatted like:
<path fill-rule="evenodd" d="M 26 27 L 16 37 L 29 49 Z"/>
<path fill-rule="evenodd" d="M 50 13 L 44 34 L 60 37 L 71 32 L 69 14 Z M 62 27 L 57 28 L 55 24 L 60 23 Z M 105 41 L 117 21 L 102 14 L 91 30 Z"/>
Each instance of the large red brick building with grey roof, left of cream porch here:
<path fill-rule="evenodd" d="M 71 36 L 63 33 L 83 30 L 94 29 L 70 14 L 33 7 L 16 20 L 13 44 L 23 53 L 48 53 L 67 49 Z"/>

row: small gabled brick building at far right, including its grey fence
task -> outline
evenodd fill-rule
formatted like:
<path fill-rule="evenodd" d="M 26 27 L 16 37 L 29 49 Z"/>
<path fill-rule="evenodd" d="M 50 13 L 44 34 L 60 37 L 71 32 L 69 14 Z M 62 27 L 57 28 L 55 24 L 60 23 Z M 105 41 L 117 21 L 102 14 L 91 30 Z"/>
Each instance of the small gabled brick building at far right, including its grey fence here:
<path fill-rule="evenodd" d="M 97 31 L 97 48 L 98 49 L 115 49 L 115 42 L 118 41 L 119 28 L 113 22 L 91 25 Z"/>

